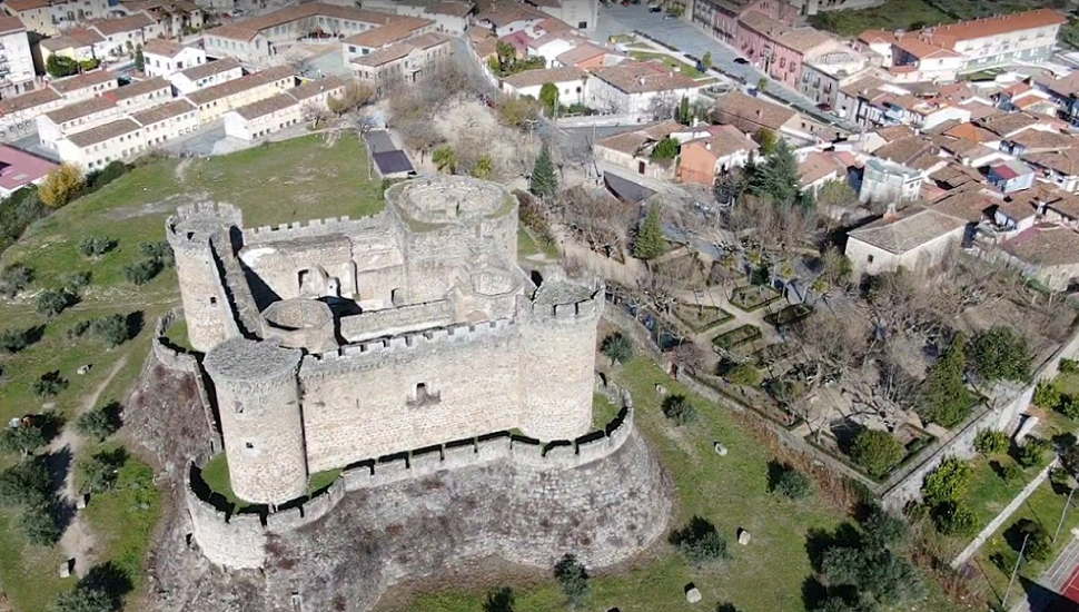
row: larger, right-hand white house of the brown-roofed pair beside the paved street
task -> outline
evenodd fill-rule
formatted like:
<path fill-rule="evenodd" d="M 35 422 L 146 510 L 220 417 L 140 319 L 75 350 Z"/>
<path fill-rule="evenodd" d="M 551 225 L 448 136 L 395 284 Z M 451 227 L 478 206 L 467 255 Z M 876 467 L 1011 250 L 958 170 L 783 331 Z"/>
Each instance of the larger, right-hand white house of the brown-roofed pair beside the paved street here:
<path fill-rule="evenodd" d="M 624 61 L 593 72 L 588 82 L 588 106 L 641 120 L 651 116 L 654 99 L 667 98 L 677 103 L 686 97 L 692 101 L 703 87 L 655 63 Z"/>

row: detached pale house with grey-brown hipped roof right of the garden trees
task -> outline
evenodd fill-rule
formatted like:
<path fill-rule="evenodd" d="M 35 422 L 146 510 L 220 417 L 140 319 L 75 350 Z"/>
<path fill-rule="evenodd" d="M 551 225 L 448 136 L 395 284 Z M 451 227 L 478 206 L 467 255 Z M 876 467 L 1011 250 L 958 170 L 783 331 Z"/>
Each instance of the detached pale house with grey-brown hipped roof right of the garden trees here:
<path fill-rule="evenodd" d="M 966 219 L 915 207 L 901 215 L 885 215 L 851 231 L 847 236 L 845 254 L 854 278 L 900 267 L 923 269 L 940 263 L 962 241 L 966 230 Z"/>

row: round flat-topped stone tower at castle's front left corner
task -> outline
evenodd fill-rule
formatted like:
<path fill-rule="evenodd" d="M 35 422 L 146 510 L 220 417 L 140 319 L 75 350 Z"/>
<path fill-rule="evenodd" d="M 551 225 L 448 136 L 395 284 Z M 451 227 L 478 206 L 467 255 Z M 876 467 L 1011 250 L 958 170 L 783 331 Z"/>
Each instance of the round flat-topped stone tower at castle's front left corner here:
<path fill-rule="evenodd" d="M 297 371 L 301 352 L 232 338 L 202 362 L 217 391 L 232 491 L 280 504 L 307 491 Z"/>

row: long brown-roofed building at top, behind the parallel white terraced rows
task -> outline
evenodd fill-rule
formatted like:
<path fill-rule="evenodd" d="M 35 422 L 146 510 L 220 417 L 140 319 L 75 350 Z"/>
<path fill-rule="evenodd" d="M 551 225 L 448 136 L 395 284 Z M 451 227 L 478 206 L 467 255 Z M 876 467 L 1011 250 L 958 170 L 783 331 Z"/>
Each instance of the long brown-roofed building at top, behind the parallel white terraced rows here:
<path fill-rule="evenodd" d="M 395 19 L 395 16 L 355 7 L 308 2 L 207 30 L 202 42 L 210 56 L 265 63 L 277 55 L 279 45 L 293 45 L 316 32 L 339 39 L 386 26 Z"/>

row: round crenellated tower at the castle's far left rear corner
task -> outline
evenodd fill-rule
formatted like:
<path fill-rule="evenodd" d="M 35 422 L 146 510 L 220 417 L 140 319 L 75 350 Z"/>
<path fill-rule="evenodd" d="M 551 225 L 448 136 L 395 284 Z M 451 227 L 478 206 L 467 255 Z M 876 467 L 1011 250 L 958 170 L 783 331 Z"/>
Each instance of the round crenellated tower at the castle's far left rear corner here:
<path fill-rule="evenodd" d="M 238 333 L 219 283 L 210 240 L 228 247 L 228 228 L 240 225 L 237 208 L 210 203 L 181 206 L 165 223 L 165 235 L 176 259 L 188 340 L 200 353 Z"/>

